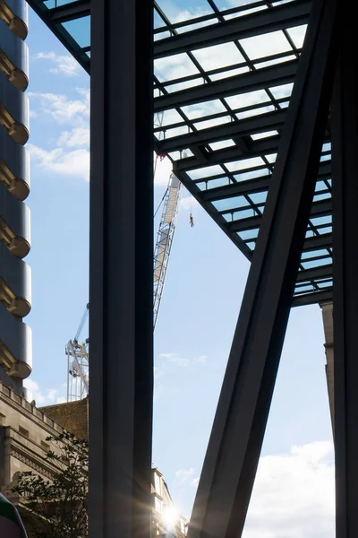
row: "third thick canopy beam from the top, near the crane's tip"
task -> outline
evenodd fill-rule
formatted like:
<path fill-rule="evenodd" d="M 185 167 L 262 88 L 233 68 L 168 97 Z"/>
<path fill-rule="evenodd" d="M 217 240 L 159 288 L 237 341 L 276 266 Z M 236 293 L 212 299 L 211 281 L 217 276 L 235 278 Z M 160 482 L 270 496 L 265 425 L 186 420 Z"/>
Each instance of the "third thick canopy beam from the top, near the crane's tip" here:
<path fill-rule="evenodd" d="M 160 153 L 176 152 L 192 146 L 219 142 L 232 139 L 235 136 L 265 133 L 275 129 L 282 129 L 285 123 L 286 109 L 260 114 L 237 121 L 228 121 L 226 124 L 200 129 L 194 133 L 171 136 L 158 143 Z"/>

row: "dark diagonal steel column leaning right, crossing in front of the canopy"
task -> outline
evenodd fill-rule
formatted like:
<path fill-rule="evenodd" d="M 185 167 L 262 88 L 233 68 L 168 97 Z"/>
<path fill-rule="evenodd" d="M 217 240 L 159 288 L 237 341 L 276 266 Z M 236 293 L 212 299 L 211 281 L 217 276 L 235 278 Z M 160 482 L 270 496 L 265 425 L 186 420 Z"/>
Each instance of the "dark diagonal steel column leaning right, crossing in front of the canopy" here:
<path fill-rule="evenodd" d="M 337 0 L 314 0 L 189 538 L 241 536 L 277 377 L 337 64 Z"/>

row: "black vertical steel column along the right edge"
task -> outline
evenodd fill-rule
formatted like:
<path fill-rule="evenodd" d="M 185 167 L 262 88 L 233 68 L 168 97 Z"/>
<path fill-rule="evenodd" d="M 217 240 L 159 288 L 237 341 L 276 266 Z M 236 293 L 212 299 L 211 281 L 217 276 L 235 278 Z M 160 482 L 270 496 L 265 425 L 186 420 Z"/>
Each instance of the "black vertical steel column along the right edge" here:
<path fill-rule="evenodd" d="M 346 9 L 349 12 L 349 8 Z M 354 22 L 346 13 L 332 100 L 336 536 L 358 536 L 358 106 Z"/>

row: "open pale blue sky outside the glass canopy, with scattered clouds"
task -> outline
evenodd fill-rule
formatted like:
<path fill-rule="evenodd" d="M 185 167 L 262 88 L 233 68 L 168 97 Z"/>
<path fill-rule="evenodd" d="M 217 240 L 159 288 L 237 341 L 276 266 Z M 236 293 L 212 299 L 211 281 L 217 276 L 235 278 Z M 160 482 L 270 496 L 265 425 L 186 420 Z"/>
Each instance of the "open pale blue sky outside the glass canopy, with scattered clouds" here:
<path fill-rule="evenodd" d="M 32 227 L 27 261 L 33 289 L 27 323 L 33 331 L 30 386 L 40 405 L 64 400 L 64 345 L 88 301 L 90 81 L 32 12 L 27 43 Z M 158 165 L 156 207 L 169 173 L 168 162 Z M 153 464 L 187 516 L 248 267 L 234 244 L 183 193 L 155 334 Z M 245 538 L 333 538 L 323 342 L 320 308 L 294 309 Z"/>

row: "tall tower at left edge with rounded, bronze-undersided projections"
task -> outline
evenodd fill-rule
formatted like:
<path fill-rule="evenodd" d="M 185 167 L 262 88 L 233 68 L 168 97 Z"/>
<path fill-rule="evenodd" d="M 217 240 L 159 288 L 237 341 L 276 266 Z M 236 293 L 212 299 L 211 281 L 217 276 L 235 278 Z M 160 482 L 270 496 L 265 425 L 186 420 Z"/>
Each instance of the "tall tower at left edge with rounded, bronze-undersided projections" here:
<path fill-rule="evenodd" d="M 25 0 L 0 0 L 0 380 L 18 395 L 31 371 L 30 159 L 28 10 Z"/>

